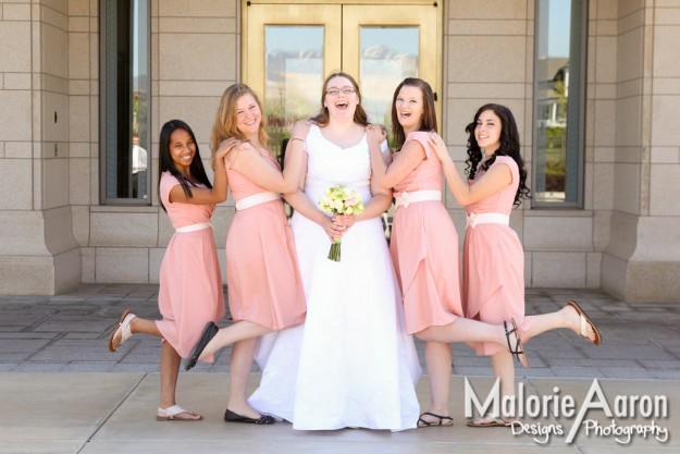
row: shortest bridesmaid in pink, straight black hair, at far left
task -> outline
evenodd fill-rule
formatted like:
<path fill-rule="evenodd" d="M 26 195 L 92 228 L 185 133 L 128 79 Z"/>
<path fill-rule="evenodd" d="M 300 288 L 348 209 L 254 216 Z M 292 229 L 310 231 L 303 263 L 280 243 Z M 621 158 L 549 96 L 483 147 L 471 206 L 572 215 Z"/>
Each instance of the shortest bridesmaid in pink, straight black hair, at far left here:
<path fill-rule="evenodd" d="M 180 358 L 186 358 L 206 320 L 224 316 L 220 266 L 210 225 L 214 204 L 226 199 L 226 171 L 222 164 L 236 140 L 215 148 L 214 186 L 200 159 L 198 144 L 188 124 L 172 120 L 163 125 L 159 145 L 159 197 L 176 233 L 161 263 L 158 303 L 162 320 L 136 317 L 129 309 L 109 339 L 118 348 L 134 333 L 160 338 L 161 402 L 157 419 L 193 421 L 200 415 L 175 402 Z M 212 361 L 211 357 L 205 358 Z"/>

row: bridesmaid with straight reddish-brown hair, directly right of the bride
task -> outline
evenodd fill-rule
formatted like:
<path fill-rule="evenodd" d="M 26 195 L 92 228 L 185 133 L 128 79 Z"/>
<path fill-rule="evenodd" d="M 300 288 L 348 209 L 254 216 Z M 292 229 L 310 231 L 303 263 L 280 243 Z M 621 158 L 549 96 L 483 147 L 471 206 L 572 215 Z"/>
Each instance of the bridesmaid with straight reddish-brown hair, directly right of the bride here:
<path fill-rule="evenodd" d="M 380 143 L 382 128 L 370 127 L 371 164 L 383 186 L 394 188 L 396 211 L 390 250 L 404 295 L 406 329 L 425 341 L 431 406 L 419 427 L 452 426 L 449 343 L 485 341 L 509 349 L 524 366 L 529 361 L 511 317 L 486 324 L 465 318 L 460 298 L 458 234 L 442 204 L 442 163 L 429 132 L 436 131 L 430 84 L 406 78 L 394 93 L 393 133 L 397 151 L 385 170 Z"/>

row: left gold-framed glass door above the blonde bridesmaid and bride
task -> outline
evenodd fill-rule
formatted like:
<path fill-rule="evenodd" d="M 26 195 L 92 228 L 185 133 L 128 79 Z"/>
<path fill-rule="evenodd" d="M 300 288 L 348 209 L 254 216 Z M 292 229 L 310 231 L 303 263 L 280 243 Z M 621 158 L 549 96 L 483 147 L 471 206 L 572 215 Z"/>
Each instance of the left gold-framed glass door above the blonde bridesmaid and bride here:
<path fill-rule="evenodd" d="M 293 123 L 319 109 L 325 74 L 342 65 L 342 7 L 245 8 L 243 79 L 262 98 L 272 151 L 281 154 Z"/>

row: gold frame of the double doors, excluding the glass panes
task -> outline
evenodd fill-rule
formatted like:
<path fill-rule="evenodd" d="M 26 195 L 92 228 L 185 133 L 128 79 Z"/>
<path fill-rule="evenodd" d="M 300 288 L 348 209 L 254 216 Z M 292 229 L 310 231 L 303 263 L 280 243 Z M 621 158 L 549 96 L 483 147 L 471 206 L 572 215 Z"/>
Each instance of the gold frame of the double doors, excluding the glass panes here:
<path fill-rule="evenodd" d="M 324 27 L 324 75 L 359 73 L 361 26 L 418 26 L 418 76 L 431 84 L 437 97 L 442 126 L 443 4 L 425 0 L 242 0 L 242 79 L 264 94 L 267 25 L 320 25 Z M 252 8 L 265 7 L 265 8 Z M 341 39 L 342 46 L 337 45 Z M 360 81 L 359 81 L 360 82 Z M 396 88 L 396 87 L 395 87 Z"/>

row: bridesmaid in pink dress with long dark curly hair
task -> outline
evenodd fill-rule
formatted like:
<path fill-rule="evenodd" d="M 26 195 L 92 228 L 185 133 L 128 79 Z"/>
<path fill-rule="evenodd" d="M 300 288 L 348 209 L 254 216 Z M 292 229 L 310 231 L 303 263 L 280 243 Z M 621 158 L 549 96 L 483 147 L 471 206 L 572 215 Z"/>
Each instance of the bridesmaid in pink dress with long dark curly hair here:
<path fill-rule="evenodd" d="M 463 247 L 466 316 L 489 323 L 512 317 L 524 341 L 548 330 L 566 328 L 599 345 L 602 335 L 597 327 L 573 300 L 556 312 L 524 316 L 524 253 L 517 233 L 508 224 L 512 207 L 529 196 L 529 188 L 512 112 L 495 103 L 482 106 L 466 132 L 469 134 L 468 184 L 458 174 L 444 140 L 431 134 L 448 187 L 468 213 Z M 479 355 L 491 356 L 502 394 L 515 395 L 515 366 L 508 352 L 485 342 L 473 346 Z M 468 422 L 470 427 L 506 425 L 506 420 L 491 415 Z"/>

